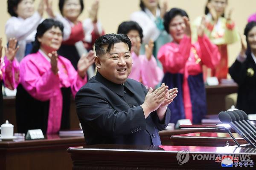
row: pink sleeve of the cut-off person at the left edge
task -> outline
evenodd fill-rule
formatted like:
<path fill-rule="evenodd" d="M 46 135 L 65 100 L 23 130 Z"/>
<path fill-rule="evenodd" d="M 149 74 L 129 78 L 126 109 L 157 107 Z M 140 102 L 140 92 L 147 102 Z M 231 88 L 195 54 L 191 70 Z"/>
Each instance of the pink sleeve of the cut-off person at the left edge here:
<path fill-rule="evenodd" d="M 3 81 L 8 89 L 14 90 L 20 83 L 20 68 L 16 58 L 11 62 L 4 58 Z"/>

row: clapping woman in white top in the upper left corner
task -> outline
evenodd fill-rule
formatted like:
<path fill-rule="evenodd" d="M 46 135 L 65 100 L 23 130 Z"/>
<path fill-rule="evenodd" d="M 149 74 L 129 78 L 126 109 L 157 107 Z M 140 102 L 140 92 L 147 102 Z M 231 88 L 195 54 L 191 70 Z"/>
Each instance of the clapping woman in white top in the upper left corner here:
<path fill-rule="evenodd" d="M 31 52 L 36 28 L 42 20 L 44 0 L 40 0 L 37 11 L 35 11 L 34 0 L 7 0 L 7 5 L 12 17 L 6 22 L 5 34 L 7 40 L 13 37 L 17 39 L 20 48 L 16 58 L 20 62 Z"/>

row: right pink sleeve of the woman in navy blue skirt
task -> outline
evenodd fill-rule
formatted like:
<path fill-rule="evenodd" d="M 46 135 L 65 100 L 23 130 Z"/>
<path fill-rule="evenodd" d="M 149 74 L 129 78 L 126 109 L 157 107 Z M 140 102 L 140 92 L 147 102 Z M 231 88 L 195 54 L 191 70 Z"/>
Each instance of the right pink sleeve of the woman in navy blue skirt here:
<path fill-rule="evenodd" d="M 209 68 L 215 68 L 220 62 L 221 55 L 218 51 L 218 47 L 211 43 L 209 38 L 204 35 L 198 36 L 198 43 L 201 49 L 201 61 Z"/>

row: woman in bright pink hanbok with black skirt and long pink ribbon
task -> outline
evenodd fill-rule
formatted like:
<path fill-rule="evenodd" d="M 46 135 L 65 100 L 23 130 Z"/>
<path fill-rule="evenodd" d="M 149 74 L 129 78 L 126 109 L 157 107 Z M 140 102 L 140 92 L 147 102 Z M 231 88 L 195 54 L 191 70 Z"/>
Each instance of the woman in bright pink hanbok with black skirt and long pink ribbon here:
<path fill-rule="evenodd" d="M 70 61 L 57 54 L 63 38 L 63 25 L 46 19 L 37 28 L 32 53 L 20 62 L 20 85 L 16 95 L 19 133 L 41 129 L 58 133 L 70 127 L 70 94 L 86 84 L 94 53 L 82 56 L 76 71 Z"/>

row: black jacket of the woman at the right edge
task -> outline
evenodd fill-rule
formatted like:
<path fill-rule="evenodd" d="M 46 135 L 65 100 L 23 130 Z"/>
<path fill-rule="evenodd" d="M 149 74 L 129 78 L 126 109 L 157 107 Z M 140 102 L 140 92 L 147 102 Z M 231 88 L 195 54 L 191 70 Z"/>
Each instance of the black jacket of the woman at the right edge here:
<path fill-rule="evenodd" d="M 233 63 L 229 69 L 231 77 L 239 85 L 237 95 L 238 109 L 243 110 L 247 114 L 256 113 L 256 64 L 250 54 L 250 50 L 246 52 L 247 58 L 241 63 L 238 60 Z M 248 71 L 253 70 L 254 74 Z"/>

